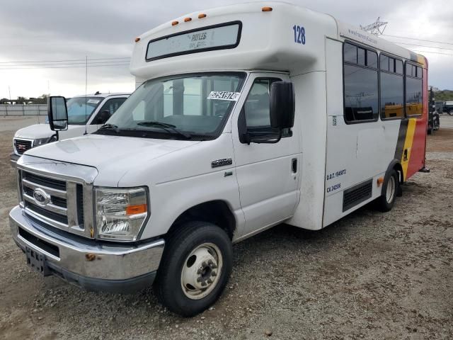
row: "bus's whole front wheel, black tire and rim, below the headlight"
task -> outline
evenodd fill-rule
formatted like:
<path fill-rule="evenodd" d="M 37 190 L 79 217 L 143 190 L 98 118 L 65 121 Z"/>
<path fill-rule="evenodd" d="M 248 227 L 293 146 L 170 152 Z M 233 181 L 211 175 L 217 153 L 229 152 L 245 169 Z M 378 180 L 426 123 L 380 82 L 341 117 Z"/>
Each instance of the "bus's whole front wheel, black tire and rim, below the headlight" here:
<path fill-rule="evenodd" d="M 192 317 L 222 294 L 233 263 L 231 240 L 207 222 L 188 222 L 166 240 L 154 285 L 168 310 Z"/>

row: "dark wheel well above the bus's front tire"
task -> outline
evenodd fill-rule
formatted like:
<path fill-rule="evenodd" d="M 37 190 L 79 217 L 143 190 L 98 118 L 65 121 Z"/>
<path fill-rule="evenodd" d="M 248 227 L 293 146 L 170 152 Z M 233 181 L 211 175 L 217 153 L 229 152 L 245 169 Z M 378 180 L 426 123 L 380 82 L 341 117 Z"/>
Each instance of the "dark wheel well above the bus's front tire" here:
<path fill-rule="evenodd" d="M 223 200 L 212 200 L 185 210 L 173 222 L 168 233 L 173 232 L 180 225 L 189 221 L 203 221 L 217 225 L 225 230 L 230 239 L 233 239 L 234 230 L 236 229 L 236 219 L 233 212 Z"/>

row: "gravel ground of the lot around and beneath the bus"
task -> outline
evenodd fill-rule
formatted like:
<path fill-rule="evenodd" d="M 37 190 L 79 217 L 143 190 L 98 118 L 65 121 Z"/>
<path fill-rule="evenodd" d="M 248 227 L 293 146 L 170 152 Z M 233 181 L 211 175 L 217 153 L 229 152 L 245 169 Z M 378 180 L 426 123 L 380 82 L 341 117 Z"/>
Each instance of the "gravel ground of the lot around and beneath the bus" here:
<path fill-rule="evenodd" d="M 0 136 L 1 339 L 453 338 L 453 129 L 442 123 L 428 137 L 431 173 L 391 212 L 365 206 L 319 232 L 280 225 L 236 244 L 228 288 L 190 319 L 151 290 L 86 293 L 29 271 L 8 227 L 11 130 Z"/>

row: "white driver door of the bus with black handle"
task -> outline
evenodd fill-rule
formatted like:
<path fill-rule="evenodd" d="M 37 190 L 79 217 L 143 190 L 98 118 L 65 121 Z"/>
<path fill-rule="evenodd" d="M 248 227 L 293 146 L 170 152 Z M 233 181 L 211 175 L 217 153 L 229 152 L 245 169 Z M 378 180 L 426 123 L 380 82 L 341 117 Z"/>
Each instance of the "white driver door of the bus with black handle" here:
<path fill-rule="evenodd" d="M 246 130 L 260 132 L 270 128 L 270 84 L 289 81 L 287 74 L 253 73 L 248 77 L 234 114 L 231 133 L 234 143 L 236 177 L 241 208 L 246 220 L 244 235 L 271 227 L 294 214 L 299 200 L 299 136 L 297 129 L 286 129 L 273 144 L 239 140 L 239 119 L 244 111 Z M 244 97 L 244 96 L 242 96 Z"/>

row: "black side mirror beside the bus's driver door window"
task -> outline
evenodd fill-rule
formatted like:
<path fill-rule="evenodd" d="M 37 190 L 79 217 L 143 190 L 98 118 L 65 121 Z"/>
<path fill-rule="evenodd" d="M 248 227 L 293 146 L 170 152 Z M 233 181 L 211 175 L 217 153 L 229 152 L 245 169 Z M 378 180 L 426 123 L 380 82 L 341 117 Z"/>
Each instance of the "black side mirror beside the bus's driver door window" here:
<path fill-rule="evenodd" d="M 294 85 L 275 81 L 270 86 L 270 126 L 283 130 L 294 126 Z"/>

